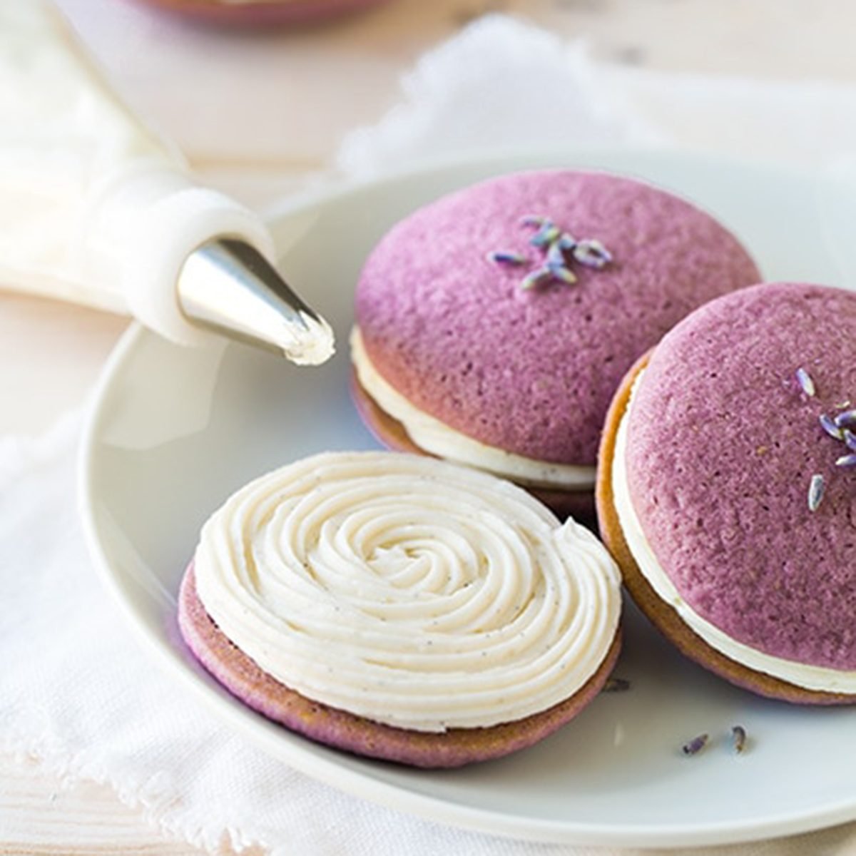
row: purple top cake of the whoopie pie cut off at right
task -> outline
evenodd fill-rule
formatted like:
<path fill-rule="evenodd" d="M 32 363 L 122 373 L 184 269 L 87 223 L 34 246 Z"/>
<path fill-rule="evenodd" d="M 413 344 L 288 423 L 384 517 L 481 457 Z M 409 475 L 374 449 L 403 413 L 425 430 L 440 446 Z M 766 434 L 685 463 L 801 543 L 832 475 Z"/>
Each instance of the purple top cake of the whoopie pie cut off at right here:
<path fill-rule="evenodd" d="M 819 417 L 850 399 L 856 294 L 766 284 L 663 339 L 627 443 L 633 508 L 681 597 L 746 645 L 832 669 L 856 669 L 856 468 L 835 466 L 847 449 Z"/>

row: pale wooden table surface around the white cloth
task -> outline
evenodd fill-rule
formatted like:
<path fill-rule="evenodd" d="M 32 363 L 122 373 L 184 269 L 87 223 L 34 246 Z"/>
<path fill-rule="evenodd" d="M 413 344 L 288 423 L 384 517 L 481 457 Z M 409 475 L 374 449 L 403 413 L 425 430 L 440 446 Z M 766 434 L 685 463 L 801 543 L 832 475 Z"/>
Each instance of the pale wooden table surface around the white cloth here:
<path fill-rule="evenodd" d="M 422 51 L 492 10 L 586 36 L 613 62 L 856 82 L 852 0 L 391 0 L 324 27 L 265 33 L 196 27 L 119 0 L 59 4 L 128 101 L 251 204 L 323 169 L 342 134 L 395 104 L 401 72 Z M 39 431 L 80 403 L 126 324 L 0 290 L 0 401 L 13 404 L 0 407 L 0 434 Z M 198 852 L 109 788 L 68 787 L 37 758 L 0 753 L 0 853 Z"/>

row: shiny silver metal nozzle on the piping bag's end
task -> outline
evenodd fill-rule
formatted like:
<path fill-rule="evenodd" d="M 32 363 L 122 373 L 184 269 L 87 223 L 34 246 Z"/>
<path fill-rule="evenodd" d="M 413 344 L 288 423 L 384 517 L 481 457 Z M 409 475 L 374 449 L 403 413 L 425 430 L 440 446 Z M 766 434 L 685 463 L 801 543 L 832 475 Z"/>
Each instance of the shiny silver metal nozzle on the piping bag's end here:
<path fill-rule="evenodd" d="M 193 324 L 285 354 L 300 366 L 317 366 L 333 354 L 330 325 L 246 241 L 217 238 L 194 250 L 176 292 Z"/>

